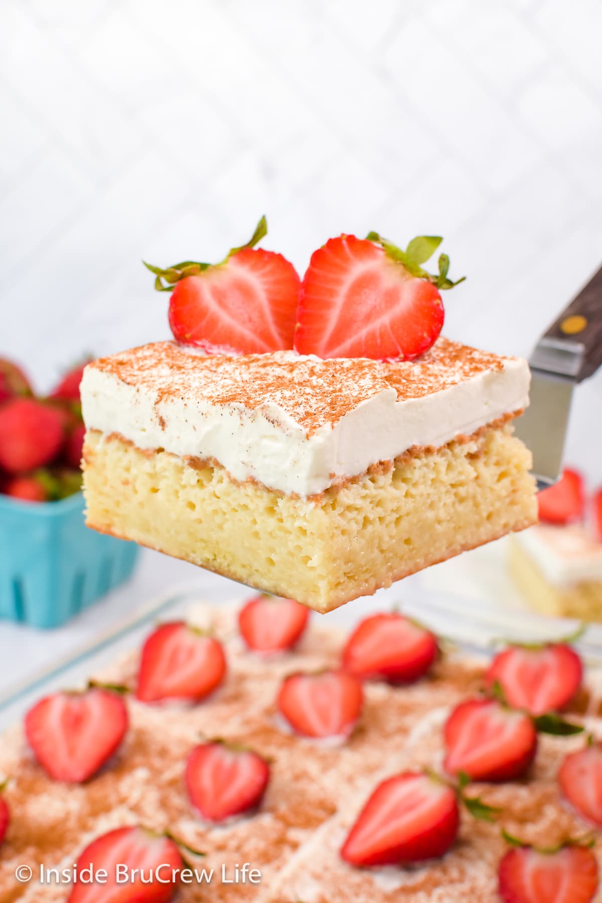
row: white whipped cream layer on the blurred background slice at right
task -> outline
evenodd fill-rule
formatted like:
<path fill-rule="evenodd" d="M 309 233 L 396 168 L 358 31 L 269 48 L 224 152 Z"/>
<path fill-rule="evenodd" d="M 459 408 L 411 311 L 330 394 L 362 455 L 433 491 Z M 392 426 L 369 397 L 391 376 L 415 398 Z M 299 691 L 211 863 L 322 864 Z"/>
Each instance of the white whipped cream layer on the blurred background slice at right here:
<path fill-rule="evenodd" d="M 514 540 L 554 586 L 602 581 L 602 543 L 584 526 L 537 524 L 514 534 Z"/>

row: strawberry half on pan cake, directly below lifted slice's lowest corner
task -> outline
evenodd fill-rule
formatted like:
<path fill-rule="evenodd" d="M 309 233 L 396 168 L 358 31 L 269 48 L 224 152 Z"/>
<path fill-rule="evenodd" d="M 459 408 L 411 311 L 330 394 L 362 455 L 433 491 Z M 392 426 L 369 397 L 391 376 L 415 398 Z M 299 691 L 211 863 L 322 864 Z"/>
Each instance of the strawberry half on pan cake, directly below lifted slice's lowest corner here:
<path fill-rule="evenodd" d="M 348 737 L 362 702 L 362 684 L 344 671 L 289 675 L 278 694 L 280 713 L 305 737 Z"/>

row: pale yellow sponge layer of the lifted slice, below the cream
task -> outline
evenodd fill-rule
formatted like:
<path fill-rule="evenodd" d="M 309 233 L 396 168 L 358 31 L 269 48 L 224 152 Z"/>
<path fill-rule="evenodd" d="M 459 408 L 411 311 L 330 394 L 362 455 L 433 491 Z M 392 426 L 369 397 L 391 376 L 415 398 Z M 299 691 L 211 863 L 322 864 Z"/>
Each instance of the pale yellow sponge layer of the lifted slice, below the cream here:
<path fill-rule="evenodd" d="M 531 453 L 509 424 L 310 498 L 93 430 L 84 459 L 88 526 L 320 611 L 537 517 Z"/>

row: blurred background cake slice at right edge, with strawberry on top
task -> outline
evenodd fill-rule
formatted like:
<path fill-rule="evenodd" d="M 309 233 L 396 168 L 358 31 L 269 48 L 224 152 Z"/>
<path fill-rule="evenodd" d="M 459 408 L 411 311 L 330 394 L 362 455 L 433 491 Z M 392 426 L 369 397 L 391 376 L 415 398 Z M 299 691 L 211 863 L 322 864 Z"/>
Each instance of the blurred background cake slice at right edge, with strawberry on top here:
<path fill-rule="evenodd" d="M 602 532 L 584 520 L 583 479 L 567 469 L 540 493 L 542 523 L 513 536 L 510 573 L 530 608 L 554 617 L 602 621 Z M 602 495 L 595 506 L 602 510 Z"/>

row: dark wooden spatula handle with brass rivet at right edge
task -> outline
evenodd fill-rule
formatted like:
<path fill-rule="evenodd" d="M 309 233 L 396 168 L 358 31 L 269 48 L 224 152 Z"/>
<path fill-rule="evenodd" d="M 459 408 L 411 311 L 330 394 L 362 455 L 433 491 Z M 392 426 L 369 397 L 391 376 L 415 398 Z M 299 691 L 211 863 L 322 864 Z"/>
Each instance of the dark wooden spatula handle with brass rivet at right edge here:
<path fill-rule="evenodd" d="M 577 375 L 579 383 L 602 366 L 602 268 L 552 323 L 543 338 L 570 340 L 583 345 L 583 363 Z"/>

